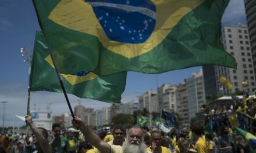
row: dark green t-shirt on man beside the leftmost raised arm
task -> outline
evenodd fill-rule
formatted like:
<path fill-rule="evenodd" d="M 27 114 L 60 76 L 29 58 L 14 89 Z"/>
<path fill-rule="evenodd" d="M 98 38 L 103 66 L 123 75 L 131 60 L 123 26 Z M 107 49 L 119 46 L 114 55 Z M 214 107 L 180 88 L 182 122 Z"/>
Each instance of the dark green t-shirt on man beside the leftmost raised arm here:
<path fill-rule="evenodd" d="M 53 153 L 69 152 L 70 151 L 69 141 L 62 135 L 59 136 L 52 143 L 52 150 L 53 150 Z"/>

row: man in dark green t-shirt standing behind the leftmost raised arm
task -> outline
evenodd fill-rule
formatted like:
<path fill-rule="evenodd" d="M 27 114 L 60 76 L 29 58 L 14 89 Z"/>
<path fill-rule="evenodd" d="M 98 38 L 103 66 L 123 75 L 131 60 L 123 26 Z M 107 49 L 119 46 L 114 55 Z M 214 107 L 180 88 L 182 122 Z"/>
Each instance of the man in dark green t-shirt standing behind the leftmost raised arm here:
<path fill-rule="evenodd" d="M 54 153 L 68 153 L 70 151 L 69 141 L 61 135 L 61 125 L 54 123 L 52 125 L 52 140 L 49 142 Z"/>

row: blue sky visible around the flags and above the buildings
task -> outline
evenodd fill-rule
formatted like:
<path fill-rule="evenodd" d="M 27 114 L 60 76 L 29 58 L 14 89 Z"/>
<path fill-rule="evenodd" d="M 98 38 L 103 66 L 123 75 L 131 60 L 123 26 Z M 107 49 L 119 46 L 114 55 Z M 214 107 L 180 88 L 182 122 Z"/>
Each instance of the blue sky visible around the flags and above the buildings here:
<path fill-rule="evenodd" d="M 222 18 L 223 25 L 246 25 L 243 0 L 230 0 L 229 6 Z M 23 121 L 15 115 L 26 115 L 27 88 L 29 81 L 29 63 L 23 62 L 20 48 L 28 52 L 33 49 L 35 31 L 40 30 L 34 6 L 31 0 L 1 0 L 0 1 L 0 101 L 5 104 L 5 126 L 22 126 Z M 138 101 L 138 95 L 147 90 L 157 89 L 163 83 L 180 83 L 191 77 L 193 72 L 201 67 L 169 71 L 162 74 L 143 74 L 128 72 L 126 89 L 122 94 L 122 103 Z M 86 107 L 101 109 L 110 104 L 96 100 L 80 99 L 68 94 L 72 108 L 81 103 Z M 51 103 L 53 114 L 69 112 L 63 93 L 32 92 L 31 110 L 41 109 Z M 13 122 L 14 121 L 14 122 Z M 0 126 L 3 122 L 3 103 L 0 103 Z"/>

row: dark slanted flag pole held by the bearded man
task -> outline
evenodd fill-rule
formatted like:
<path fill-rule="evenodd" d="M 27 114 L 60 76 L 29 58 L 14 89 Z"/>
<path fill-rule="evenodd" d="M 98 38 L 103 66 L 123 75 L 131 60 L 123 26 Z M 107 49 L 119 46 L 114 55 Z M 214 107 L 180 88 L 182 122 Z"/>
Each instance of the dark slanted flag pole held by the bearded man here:
<path fill-rule="evenodd" d="M 71 112 L 71 115 L 72 115 L 72 117 L 73 117 L 73 119 L 74 119 L 74 112 L 73 112 L 72 107 L 71 107 L 71 105 L 70 105 L 70 103 L 69 103 L 69 97 L 67 97 L 67 93 L 66 93 L 66 90 L 65 90 L 65 86 L 64 86 L 64 84 L 63 84 L 63 81 L 62 81 L 62 77 L 61 77 L 61 75 L 59 74 L 59 70 L 58 70 L 58 67 L 57 67 L 57 65 L 56 65 L 56 63 L 55 63 L 54 56 L 52 55 L 52 51 L 51 51 L 51 49 L 49 48 L 48 45 L 47 45 L 47 47 L 48 47 L 49 54 L 50 54 L 51 59 L 52 59 L 52 63 L 54 63 L 54 68 L 55 68 L 56 74 L 57 74 L 57 76 L 58 76 L 59 83 L 61 83 L 61 88 L 62 88 L 63 93 L 64 93 L 64 95 L 65 95 L 65 99 L 66 99 L 66 101 L 67 101 L 67 105 L 69 106 L 69 111 Z"/>

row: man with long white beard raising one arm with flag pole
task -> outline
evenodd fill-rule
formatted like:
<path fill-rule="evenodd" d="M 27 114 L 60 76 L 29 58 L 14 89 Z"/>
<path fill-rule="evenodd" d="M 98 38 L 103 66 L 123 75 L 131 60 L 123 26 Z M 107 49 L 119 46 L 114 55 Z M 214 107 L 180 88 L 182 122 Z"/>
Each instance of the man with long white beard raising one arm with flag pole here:
<path fill-rule="evenodd" d="M 123 146 L 111 145 L 102 141 L 97 134 L 88 128 L 77 116 L 72 121 L 73 125 L 79 127 L 84 134 L 84 138 L 102 153 L 149 153 L 146 151 L 146 145 L 143 142 L 144 131 L 139 126 L 133 126 L 128 130 L 127 139 Z"/>

